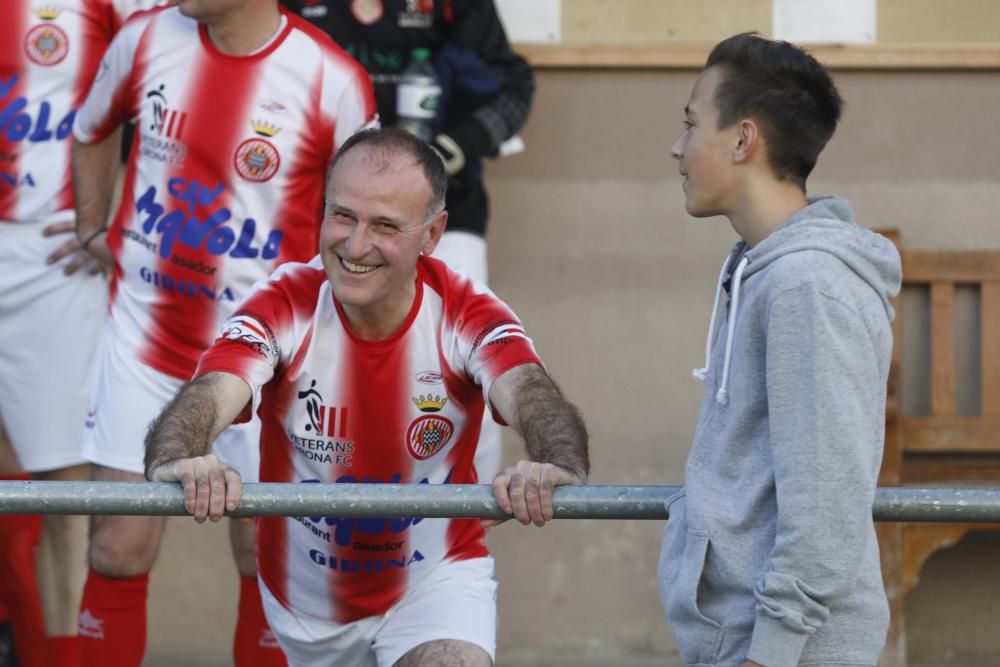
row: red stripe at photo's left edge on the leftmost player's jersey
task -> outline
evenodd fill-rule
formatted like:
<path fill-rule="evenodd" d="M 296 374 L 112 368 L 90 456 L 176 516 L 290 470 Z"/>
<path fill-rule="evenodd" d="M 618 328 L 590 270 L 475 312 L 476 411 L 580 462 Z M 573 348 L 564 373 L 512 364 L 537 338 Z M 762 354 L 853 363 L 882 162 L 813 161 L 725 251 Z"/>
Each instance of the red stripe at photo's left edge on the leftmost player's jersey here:
<path fill-rule="evenodd" d="M 11 130 L 20 112 L 14 101 L 25 91 L 27 62 L 24 37 L 28 29 L 30 7 L 27 2 L 5 7 L 0 21 L 0 220 L 17 219 L 17 181 L 21 142 L 10 139 Z M 22 121 L 17 121 L 22 122 Z M 15 182 L 11 183 L 8 179 Z"/>

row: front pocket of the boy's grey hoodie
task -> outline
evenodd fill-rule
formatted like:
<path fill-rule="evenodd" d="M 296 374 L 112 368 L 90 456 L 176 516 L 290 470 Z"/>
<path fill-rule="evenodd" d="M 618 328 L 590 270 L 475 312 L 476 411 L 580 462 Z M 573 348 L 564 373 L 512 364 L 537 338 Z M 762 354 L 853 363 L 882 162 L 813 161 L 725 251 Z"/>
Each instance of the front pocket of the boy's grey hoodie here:
<path fill-rule="evenodd" d="M 719 655 L 725 631 L 698 607 L 698 589 L 708 556 L 708 532 L 689 528 L 685 537 L 680 567 L 663 590 L 663 605 L 684 662 L 712 665 Z"/>

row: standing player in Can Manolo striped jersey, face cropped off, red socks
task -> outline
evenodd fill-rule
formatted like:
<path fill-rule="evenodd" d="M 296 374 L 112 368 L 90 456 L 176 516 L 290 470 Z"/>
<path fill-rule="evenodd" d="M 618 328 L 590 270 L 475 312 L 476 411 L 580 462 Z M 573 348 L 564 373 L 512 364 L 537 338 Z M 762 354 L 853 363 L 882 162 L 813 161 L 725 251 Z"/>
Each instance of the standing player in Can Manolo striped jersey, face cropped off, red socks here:
<path fill-rule="evenodd" d="M 80 236 L 114 268 L 84 442 L 96 479 L 142 478 L 146 427 L 219 323 L 254 282 L 315 253 L 335 148 L 374 112 L 364 70 L 277 0 L 182 0 L 119 33 L 74 127 Z M 110 137 L 128 120 L 137 133 L 107 228 Z M 227 460 L 251 479 L 256 450 L 239 444 L 255 433 L 216 443 L 243 457 Z M 84 663 L 138 665 L 164 522 L 92 525 Z M 236 663 L 281 663 L 260 610 L 252 522 L 233 522 L 233 537 L 243 575 Z"/>

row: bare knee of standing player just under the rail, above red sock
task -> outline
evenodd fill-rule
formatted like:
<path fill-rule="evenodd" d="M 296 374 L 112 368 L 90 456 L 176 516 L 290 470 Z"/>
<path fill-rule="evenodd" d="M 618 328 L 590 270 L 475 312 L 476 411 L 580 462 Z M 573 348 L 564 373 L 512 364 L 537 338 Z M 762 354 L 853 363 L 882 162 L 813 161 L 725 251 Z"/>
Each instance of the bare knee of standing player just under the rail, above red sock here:
<path fill-rule="evenodd" d="M 90 527 L 90 566 L 106 577 L 136 577 L 153 568 L 163 533 L 162 517 L 95 516 Z"/>

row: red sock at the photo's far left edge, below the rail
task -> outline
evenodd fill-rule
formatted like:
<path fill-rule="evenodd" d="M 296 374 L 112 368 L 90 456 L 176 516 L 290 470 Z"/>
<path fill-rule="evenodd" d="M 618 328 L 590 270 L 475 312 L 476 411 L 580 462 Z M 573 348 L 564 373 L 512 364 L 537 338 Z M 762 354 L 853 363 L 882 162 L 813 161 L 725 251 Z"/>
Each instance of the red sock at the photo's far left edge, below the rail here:
<path fill-rule="evenodd" d="M 30 479 L 28 475 L 0 479 Z M 35 578 L 35 550 L 42 530 L 37 515 L 0 515 L 0 599 L 14 633 L 14 652 L 22 667 L 46 667 L 45 620 Z"/>

